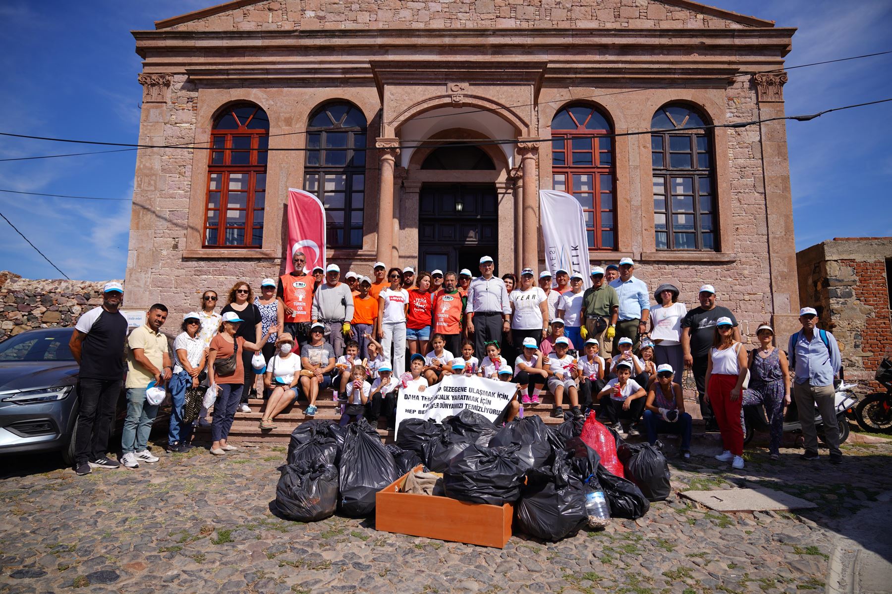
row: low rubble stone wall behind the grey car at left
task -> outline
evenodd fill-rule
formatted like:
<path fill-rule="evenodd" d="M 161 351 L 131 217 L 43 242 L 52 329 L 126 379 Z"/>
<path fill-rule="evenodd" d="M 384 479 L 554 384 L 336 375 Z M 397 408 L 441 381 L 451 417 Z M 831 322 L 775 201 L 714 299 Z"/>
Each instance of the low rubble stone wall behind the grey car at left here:
<path fill-rule="evenodd" d="M 73 326 L 81 313 L 102 305 L 105 282 L 33 281 L 0 272 L 0 341 L 33 328 Z"/>

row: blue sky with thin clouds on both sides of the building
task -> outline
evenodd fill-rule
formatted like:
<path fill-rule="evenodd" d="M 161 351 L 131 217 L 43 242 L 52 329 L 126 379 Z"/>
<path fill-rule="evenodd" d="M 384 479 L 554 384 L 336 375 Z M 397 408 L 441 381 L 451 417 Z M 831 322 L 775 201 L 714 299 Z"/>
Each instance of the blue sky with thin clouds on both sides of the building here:
<path fill-rule="evenodd" d="M 0 131 L 136 142 L 142 87 L 131 29 L 214 0 L 0 3 Z M 797 27 L 788 66 L 892 49 L 892 3 L 861 0 L 713 0 L 735 12 Z M 849 6 L 855 6 L 852 10 Z M 892 54 L 789 71 L 788 115 L 892 97 Z M 892 103 L 788 122 L 797 249 L 833 237 L 892 234 Z M 102 150 L 0 138 L 0 159 Z M 72 279 L 123 278 L 135 152 L 0 163 L 0 212 Z M 0 220 L 0 270 L 59 274 Z"/>

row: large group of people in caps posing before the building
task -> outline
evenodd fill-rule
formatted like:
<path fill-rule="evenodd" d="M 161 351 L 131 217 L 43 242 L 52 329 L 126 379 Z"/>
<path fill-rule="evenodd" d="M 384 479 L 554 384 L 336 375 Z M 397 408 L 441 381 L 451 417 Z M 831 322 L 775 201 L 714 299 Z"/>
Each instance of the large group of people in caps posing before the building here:
<path fill-rule="evenodd" d="M 305 254 L 295 249 L 293 271 L 277 280 L 263 279 L 257 296 L 250 283 L 236 282 L 219 313 L 218 294 L 205 291 L 198 310 L 184 316 L 172 353 L 161 334 L 167 307 L 149 309 L 145 325 L 126 338 L 124 466 L 157 460 L 146 445 L 158 409 L 145 397 L 149 387 L 166 385 L 172 396 L 169 448 L 174 452 L 191 447 L 193 427 L 183 414 L 186 391 L 215 390 L 211 453 L 222 455 L 236 449 L 227 436 L 236 412 L 251 411 L 249 397 L 265 400 L 264 430 L 275 428 L 276 416 L 299 395 L 307 401 L 304 414 L 313 417 L 319 395 L 328 388 L 342 403 L 343 423 L 383 417 L 392 427 L 401 387 L 423 389 L 451 373 L 515 383 L 507 421 L 521 406 L 539 404 L 547 390 L 555 417 L 564 417 L 566 401 L 577 416 L 597 403 L 619 432 L 636 435 L 643 420 L 650 443 L 659 433 L 680 434 L 681 455 L 687 458 L 691 417 L 680 385 L 685 368 L 693 373 L 707 430 L 722 434 L 719 460 L 743 468 L 741 394 L 747 372 L 747 402 L 764 403 L 770 416 L 772 458 L 778 455 L 791 389 L 803 420 L 804 457 L 817 458 L 812 413 L 816 405 L 822 413 L 832 409 L 840 357 L 832 335 L 815 329 L 812 308 L 802 310 L 803 330 L 790 338 L 789 352 L 799 362 L 794 374 L 774 346 L 770 325 L 759 327 L 759 346 L 747 354 L 737 320 L 716 304 L 712 285 L 700 288 L 699 305 L 689 311 L 671 283 L 661 284 L 651 296 L 627 257 L 593 266 L 588 289 L 583 289 L 582 274 L 566 270 L 553 276 L 541 272 L 537 280 L 532 268 L 524 268 L 519 278 L 499 278 L 490 256 L 480 259 L 480 274 L 473 278 L 467 269 L 416 273 L 376 262 L 374 278 L 350 271 L 342 282 L 337 264 L 307 271 L 306 263 Z M 105 456 L 103 439 L 116 399 L 114 381 L 120 390 L 123 371 L 120 350 L 115 352 L 127 330 L 118 311 L 122 292 L 120 284 L 106 285 L 102 307 L 81 317 L 71 339 L 81 363 L 83 401 L 78 474 L 118 466 Z M 206 424 L 206 415 L 202 410 L 198 422 Z M 830 460 L 840 460 L 836 427 L 825 427 L 825 434 Z"/>

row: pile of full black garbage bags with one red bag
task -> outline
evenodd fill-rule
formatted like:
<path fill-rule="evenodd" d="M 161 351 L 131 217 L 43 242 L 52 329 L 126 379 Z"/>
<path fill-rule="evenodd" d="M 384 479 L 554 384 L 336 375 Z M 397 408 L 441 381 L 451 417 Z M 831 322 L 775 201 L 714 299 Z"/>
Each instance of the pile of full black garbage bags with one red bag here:
<path fill-rule="evenodd" d="M 609 517 L 642 517 L 650 501 L 670 492 L 663 455 L 648 444 L 625 443 L 594 413 L 550 427 L 535 415 L 495 427 L 468 410 L 442 424 L 406 419 L 388 445 L 364 419 L 347 427 L 312 420 L 294 430 L 287 460 L 277 506 L 302 522 L 336 509 L 371 515 L 376 492 L 409 474 L 426 485 L 415 492 L 514 504 L 518 531 L 559 541 Z"/>

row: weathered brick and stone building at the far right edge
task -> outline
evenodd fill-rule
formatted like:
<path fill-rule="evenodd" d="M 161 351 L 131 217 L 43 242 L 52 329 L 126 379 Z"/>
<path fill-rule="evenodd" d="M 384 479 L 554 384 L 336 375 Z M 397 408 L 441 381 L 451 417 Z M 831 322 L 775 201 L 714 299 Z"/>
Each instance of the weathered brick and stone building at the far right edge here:
<path fill-rule="evenodd" d="M 799 299 L 838 339 L 847 380 L 864 389 L 892 348 L 892 237 L 836 238 L 796 255 Z"/>

